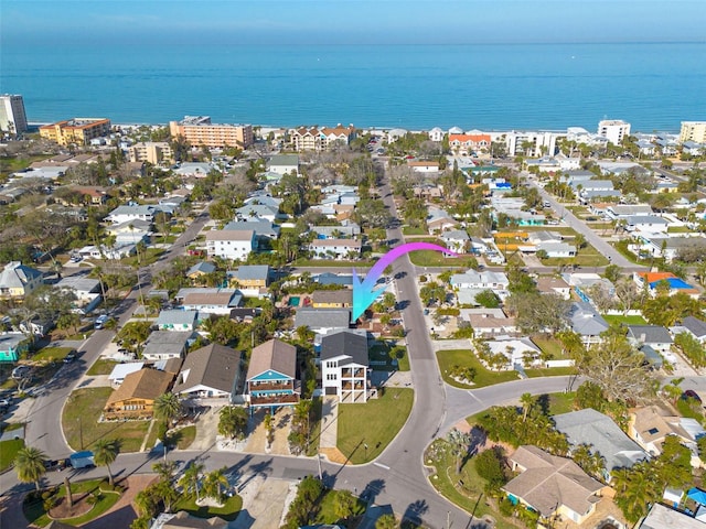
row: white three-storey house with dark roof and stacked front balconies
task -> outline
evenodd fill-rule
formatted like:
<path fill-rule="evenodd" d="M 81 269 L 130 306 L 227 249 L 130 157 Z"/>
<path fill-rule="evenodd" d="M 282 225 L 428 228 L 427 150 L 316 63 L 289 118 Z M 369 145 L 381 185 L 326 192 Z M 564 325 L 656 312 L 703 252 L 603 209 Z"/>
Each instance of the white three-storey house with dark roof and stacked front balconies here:
<path fill-rule="evenodd" d="M 342 331 L 321 339 L 321 386 L 340 402 L 367 402 L 367 337 Z"/>

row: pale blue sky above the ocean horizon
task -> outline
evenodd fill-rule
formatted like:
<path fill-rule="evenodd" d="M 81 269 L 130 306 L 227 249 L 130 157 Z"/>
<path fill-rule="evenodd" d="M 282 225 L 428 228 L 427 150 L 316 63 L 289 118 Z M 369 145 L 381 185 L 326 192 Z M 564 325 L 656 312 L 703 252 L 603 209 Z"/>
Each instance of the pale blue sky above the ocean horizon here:
<path fill-rule="evenodd" d="M 531 43 L 706 40 L 706 0 L 3 0 L 21 42 Z"/>

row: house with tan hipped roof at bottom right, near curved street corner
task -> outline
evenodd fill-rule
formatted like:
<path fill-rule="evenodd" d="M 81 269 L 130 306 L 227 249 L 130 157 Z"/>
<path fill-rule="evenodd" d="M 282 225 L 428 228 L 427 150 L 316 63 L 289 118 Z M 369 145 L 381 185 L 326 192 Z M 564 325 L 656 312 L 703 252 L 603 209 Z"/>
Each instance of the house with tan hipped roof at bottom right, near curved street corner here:
<path fill-rule="evenodd" d="M 596 511 L 608 488 L 574 461 L 536 446 L 522 445 L 509 458 L 520 475 L 502 489 L 513 504 L 520 501 L 545 519 L 558 515 L 580 525 Z"/>

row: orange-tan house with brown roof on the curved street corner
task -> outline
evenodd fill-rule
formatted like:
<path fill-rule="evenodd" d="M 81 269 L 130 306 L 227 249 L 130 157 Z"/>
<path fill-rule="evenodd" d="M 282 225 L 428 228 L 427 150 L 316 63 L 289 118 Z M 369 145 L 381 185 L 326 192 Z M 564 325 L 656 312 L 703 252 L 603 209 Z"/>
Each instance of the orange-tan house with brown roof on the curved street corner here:
<path fill-rule="evenodd" d="M 140 369 L 127 375 L 108 397 L 103 418 L 108 421 L 151 419 L 154 401 L 167 392 L 172 380 L 170 374 L 158 369 Z"/>

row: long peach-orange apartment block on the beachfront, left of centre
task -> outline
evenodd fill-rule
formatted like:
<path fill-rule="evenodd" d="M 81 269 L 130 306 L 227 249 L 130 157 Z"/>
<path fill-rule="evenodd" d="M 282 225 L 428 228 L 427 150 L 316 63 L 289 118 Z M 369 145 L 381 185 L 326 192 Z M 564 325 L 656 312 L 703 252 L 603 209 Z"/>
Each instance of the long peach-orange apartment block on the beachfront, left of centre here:
<path fill-rule="evenodd" d="M 210 116 L 184 116 L 181 121 L 170 121 L 169 132 L 172 138 L 183 137 L 191 147 L 208 148 L 238 147 L 247 149 L 253 144 L 253 126 L 217 125 L 211 122 Z"/>

